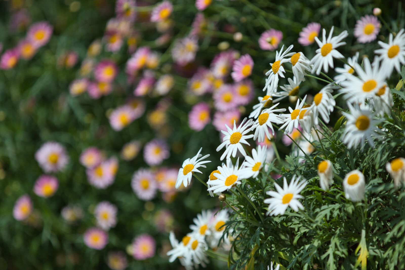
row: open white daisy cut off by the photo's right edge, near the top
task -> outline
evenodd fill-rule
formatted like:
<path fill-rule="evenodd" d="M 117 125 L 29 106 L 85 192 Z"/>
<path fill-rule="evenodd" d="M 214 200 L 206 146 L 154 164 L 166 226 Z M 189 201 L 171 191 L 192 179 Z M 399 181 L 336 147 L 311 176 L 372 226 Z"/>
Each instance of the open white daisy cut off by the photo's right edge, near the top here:
<path fill-rule="evenodd" d="M 374 52 L 379 54 L 380 59 L 382 59 L 381 71 L 384 72 L 385 77 L 391 76 L 394 67 L 400 73 L 401 64 L 405 64 L 404 29 L 401 29 L 394 39 L 392 39 L 392 34 L 390 34 L 388 44 L 382 41 L 379 41 L 378 44 L 381 46 L 381 49 L 377 49 Z"/>

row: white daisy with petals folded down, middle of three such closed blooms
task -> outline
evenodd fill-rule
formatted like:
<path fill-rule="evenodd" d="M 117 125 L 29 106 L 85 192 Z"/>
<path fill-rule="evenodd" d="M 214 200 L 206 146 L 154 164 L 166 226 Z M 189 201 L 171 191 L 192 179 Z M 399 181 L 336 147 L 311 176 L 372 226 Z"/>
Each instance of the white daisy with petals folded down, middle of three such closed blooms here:
<path fill-rule="evenodd" d="M 364 199 L 364 175 L 359 170 L 352 170 L 346 174 L 343 180 L 343 189 L 346 199 L 358 202 Z"/>

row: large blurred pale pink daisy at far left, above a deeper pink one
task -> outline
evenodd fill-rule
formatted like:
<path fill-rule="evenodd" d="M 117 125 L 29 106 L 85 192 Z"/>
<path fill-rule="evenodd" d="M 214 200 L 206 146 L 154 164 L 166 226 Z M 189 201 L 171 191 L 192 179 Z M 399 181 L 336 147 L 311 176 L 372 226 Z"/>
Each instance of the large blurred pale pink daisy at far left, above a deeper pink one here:
<path fill-rule="evenodd" d="M 65 148 L 58 142 L 45 142 L 36 151 L 35 159 L 45 172 L 59 172 L 69 161 Z"/>

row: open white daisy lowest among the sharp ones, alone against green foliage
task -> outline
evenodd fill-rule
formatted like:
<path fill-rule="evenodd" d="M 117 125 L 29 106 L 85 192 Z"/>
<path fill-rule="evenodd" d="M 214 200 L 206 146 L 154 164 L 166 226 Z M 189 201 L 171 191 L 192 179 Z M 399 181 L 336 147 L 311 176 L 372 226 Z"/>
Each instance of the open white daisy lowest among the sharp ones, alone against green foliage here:
<path fill-rule="evenodd" d="M 295 179 L 295 177 L 295 175 L 292 176 L 290 185 L 287 184 L 287 179 L 284 177 L 283 188 L 275 183 L 274 186 L 277 191 L 266 192 L 267 195 L 273 197 L 264 200 L 265 204 L 269 204 L 269 212 L 267 212 L 267 215 L 283 215 L 288 206 L 296 212 L 298 212 L 298 209 L 304 209 L 304 206 L 298 201 L 298 199 L 304 198 L 299 193 L 307 185 L 307 181 L 303 179 L 300 182 L 299 180 L 301 176 L 298 176 L 297 179 Z"/>

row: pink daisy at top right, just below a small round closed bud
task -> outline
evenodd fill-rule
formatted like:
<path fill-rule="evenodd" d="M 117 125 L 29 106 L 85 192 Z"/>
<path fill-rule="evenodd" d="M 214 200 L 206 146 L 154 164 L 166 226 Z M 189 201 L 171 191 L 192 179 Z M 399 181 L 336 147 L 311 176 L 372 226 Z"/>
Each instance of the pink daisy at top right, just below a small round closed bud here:
<path fill-rule="evenodd" d="M 377 17 L 366 15 L 361 17 L 354 26 L 354 36 L 358 43 L 369 43 L 377 38 L 381 23 Z"/>

